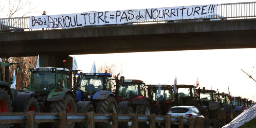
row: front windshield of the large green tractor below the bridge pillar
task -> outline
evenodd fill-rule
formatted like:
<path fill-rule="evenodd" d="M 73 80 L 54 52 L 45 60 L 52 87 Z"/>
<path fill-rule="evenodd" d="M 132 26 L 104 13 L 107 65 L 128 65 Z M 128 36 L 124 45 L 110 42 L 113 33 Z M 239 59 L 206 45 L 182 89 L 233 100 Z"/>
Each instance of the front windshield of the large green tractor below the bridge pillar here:
<path fill-rule="evenodd" d="M 30 79 L 33 89 L 48 90 L 55 87 L 55 72 L 52 71 L 34 71 Z"/>

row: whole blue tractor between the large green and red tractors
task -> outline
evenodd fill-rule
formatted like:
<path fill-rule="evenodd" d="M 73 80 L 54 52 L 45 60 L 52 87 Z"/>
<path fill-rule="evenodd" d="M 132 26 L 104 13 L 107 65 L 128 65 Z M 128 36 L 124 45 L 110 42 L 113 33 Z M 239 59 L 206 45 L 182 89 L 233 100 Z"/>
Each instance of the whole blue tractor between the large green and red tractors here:
<path fill-rule="evenodd" d="M 77 112 L 87 113 L 116 113 L 118 112 L 115 95 L 112 93 L 110 78 L 112 75 L 105 73 L 78 73 L 76 88 Z M 76 123 L 76 127 L 87 128 L 86 122 Z M 98 128 L 112 127 L 109 122 L 96 122 Z"/>

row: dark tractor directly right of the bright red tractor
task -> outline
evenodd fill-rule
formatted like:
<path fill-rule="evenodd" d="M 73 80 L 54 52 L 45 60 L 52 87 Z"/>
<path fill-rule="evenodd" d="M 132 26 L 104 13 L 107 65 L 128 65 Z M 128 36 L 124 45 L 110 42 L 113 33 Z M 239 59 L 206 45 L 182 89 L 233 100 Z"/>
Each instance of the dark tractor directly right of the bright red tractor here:
<path fill-rule="evenodd" d="M 160 85 L 161 92 L 160 97 L 157 96 L 159 85 L 146 85 L 148 97 L 152 99 L 152 104 L 156 104 L 153 107 L 153 111 L 157 110 L 155 108 L 160 108 L 158 115 L 166 115 L 169 112 L 169 109 L 172 106 L 175 106 L 176 103 L 174 101 L 173 87 L 171 85 Z"/>

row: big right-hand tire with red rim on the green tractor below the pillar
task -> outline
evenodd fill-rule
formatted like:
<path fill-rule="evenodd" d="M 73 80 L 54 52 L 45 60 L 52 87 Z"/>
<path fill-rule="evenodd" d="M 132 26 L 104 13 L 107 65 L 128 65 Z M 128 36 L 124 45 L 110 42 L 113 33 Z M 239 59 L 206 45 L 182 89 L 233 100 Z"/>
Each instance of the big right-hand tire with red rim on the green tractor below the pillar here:
<path fill-rule="evenodd" d="M 51 103 L 50 112 L 61 112 L 67 111 L 69 113 L 75 113 L 75 101 L 72 95 L 66 94 L 63 99 L 54 101 Z M 60 128 L 59 122 L 51 123 L 52 128 Z M 68 122 L 67 128 L 73 128 L 75 126 L 75 122 Z"/>

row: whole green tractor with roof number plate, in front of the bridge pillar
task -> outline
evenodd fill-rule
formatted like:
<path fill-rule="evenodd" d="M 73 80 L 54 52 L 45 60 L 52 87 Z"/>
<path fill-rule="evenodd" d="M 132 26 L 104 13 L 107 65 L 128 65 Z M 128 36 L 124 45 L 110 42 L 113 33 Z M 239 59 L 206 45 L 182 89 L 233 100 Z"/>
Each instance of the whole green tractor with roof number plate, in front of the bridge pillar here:
<path fill-rule="evenodd" d="M 31 61 L 29 61 L 29 66 L 30 63 Z M 72 85 L 70 84 L 72 83 L 70 82 L 72 81 L 70 75 L 73 71 L 65 68 L 66 60 L 63 63 L 64 68 L 29 68 L 29 86 L 20 89 L 19 91 L 24 93 L 20 93 L 19 95 L 29 94 L 37 99 L 40 112 L 76 112 L 76 98 L 72 91 Z M 18 107 L 18 104 L 15 106 Z M 67 123 L 68 128 L 73 128 L 74 125 L 74 122 Z M 54 122 L 51 123 L 51 127 L 59 128 L 60 124 L 59 122 Z"/>

